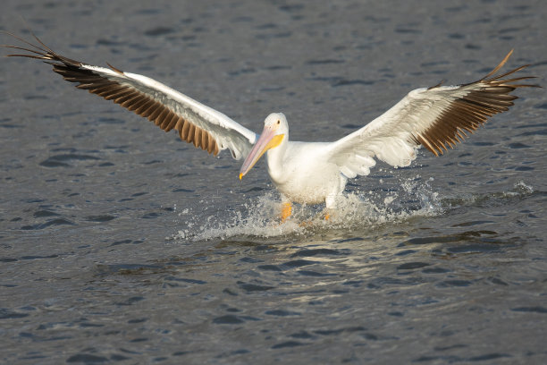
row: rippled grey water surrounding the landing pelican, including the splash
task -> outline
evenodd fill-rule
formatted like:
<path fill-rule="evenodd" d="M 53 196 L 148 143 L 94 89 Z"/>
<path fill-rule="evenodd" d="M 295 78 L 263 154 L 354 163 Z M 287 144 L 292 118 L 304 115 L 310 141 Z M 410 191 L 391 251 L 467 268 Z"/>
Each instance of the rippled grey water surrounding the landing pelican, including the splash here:
<path fill-rule="evenodd" d="M 4 0 L 0 28 L 256 131 L 282 111 L 293 140 L 511 48 L 547 85 L 542 1 L 332 3 Z M 240 182 L 228 154 L 0 61 L 0 362 L 547 361 L 543 89 L 446 156 L 378 164 L 331 223 L 280 226 L 264 163 Z"/>

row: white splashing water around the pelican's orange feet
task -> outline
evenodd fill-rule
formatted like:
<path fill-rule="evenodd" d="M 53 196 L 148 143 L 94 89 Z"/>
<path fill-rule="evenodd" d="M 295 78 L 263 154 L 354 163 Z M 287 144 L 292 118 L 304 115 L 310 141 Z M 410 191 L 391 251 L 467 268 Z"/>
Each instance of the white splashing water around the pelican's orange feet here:
<path fill-rule="evenodd" d="M 390 179 L 396 180 L 396 179 Z M 281 199 L 276 192 L 253 199 L 231 216 L 210 216 L 205 223 L 186 221 L 187 227 L 171 237 L 174 240 L 204 241 L 230 237 L 301 236 L 324 230 L 363 230 L 386 223 L 398 223 L 411 216 L 442 213 L 438 193 L 420 175 L 398 181 L 385 191 L 349 191 L 342 194 L 336 211 L 324 219 L 324 206 L 293 205 L 292 216 L 280 223 Z M 380 183 L 383 183 L 380 181 Z M 179 216 L 192 219 L 189 209 Z M 198 217 L 203 219 L 202 217 Z"/>

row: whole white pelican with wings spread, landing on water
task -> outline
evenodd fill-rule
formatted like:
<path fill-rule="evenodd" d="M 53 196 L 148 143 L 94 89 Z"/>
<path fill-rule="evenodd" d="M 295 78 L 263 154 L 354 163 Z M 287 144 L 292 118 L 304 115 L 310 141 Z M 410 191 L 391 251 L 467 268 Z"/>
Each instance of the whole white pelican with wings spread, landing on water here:
<path fill-rule="evenodd" d="M 474 132 L 488 117 L 507 111 L 517 98 L 509 95 L 511 91 L 537 87 L 519 83 L 532 76 L 505 78 L 527 64 L 497 74 L 509 59 L 510 51 L 479 81 L 412 90 L 383 115 L 341 140 L 297 142 L 289 140 L 289 124 L 282 113 L 268 115 L 258 136 L 215 109 L 146 76 L 122 72 L 110 64 L 108 67 L 83 64 L 59 55 L 38 38 L 38 46 L 17 39 L 29 48 L 4 47 L 29 54 L 8 56 L 36 58 L 52 64 L 53 71 L 66 81 L 76 82 L 78 89 L 112 100 L 146 117 L 165 132 L 174 129 L 181 140 L 209 153 L 216 155 L 230 149 L 236 160 L 245 157 L 240 179 L 266 153 L 268 174 L 282 195 L 282 221 L 290 216 L 291 202 L 324 202 L 328 217 L 348 179 L 369 174 L 376 163 L 374 157 L 397 167 L 408 166 L 420 146 L 438 156 L 447 146 L 454 148 L 467 132 Z"/>

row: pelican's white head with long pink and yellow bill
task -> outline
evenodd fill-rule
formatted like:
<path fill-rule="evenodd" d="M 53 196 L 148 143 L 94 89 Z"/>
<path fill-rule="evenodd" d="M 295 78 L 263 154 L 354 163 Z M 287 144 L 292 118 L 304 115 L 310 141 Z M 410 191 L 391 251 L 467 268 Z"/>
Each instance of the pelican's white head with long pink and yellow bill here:
<path fill-rule="evenodd" d="M 253 146 L 253 149 L 248 153 L 248 157 L 245 158 L 243 166 L 240 169 L 240 179 L 248 173 L 257 161 L 265 154 L 268 149 L 275 149 L 278 147 L 282 140 L 287 138 L 289 133 L 289 124 L 287 118 L 282 113 L 272 113 L 265 118 L 264 130 L 260 134 L 260 138 Z"/>

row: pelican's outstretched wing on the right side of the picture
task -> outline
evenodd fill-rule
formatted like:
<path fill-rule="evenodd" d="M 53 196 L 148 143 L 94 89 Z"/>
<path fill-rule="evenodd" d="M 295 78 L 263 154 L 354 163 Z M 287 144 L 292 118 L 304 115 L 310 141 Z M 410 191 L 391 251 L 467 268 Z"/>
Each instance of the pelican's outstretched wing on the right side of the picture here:
<path fill-rule="evenodd" d="M 365 127 L 329 145 L 328 159 L 340 166 L 341 173 L 352 178 L 369 174 L 373 157 L 391 166 L 408 166 L 420 146 L 435 156 L 453 148 L 473 133 L 492 115 L 509 110 L 516 96 L 511 91 L 538 87 L 518 83 L 532 76 L 503 79 L 522 70 L 518 67 L 496 75 L 512 51 L 483 79 L 458 86 L 435 85 L 415 89 L 390 110 Z"/>

